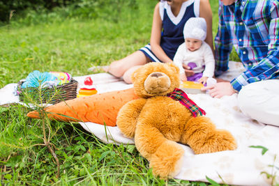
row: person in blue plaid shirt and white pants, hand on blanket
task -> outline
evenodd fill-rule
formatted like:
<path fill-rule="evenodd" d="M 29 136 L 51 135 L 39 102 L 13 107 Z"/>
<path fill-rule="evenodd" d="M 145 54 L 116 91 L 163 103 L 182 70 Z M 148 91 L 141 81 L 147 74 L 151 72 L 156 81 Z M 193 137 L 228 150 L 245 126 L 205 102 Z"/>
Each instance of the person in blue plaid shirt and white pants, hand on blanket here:
<path fill-rule="evenodd" d="M 219 17 L 215 74 L 228 69 L 232 45 L 246 71 L 232 82 L 219 82 L 204 90 L 214 98 L 239 92 L 244 114 L 279 125 L 279 1 L 220 0 Z"/>

